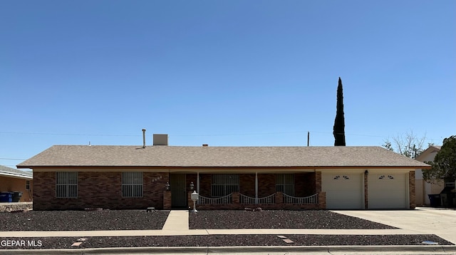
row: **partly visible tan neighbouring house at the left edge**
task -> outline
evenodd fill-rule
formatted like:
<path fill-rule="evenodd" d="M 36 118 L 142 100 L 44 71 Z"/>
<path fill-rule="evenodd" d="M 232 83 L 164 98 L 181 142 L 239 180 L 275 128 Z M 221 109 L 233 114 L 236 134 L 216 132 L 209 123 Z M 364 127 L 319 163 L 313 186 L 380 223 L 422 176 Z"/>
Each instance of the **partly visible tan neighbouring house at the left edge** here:
<path fill-rule="evenodd" d="M 0 192 L 22 192 L 20 202 L 32 201 L 32 172 L 0 165 Z"/>

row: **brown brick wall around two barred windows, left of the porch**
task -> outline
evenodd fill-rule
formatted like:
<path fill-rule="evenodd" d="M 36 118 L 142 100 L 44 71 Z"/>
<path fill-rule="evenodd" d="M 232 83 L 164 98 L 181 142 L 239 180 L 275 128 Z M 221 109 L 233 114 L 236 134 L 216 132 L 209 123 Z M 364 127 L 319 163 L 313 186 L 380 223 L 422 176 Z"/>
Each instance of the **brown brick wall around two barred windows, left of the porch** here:
<path fill-rule="evenodd" d="M 143 173 L 143 197 L 122 197 L 121 172 L 78 172 L 78 197 L 56 198 L 56 172 L 33 173 L 33 209 L 163 208 L 167 173 Z"/>

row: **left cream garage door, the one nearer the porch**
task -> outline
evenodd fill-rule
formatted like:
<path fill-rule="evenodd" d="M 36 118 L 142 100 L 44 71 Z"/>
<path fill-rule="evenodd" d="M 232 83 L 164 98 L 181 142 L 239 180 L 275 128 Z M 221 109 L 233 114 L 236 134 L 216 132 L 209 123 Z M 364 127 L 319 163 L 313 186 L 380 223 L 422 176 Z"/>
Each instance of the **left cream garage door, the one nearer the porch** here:
<path fill-rule="evenodd" d="M 361 174 L 323 174 L 321 190 L 326 192 L 327 209 L 363 209 Z"/>

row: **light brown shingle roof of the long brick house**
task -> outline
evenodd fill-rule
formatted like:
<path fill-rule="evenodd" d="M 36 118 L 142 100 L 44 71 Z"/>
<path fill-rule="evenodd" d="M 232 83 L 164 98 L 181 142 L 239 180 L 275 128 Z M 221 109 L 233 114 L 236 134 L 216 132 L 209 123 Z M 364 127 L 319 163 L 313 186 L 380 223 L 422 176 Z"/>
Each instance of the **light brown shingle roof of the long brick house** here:
<path fill-rule="evenodd" d="M 428 167 L 383 147 L 181 147 L 54 145 L 33 167 Z"/>

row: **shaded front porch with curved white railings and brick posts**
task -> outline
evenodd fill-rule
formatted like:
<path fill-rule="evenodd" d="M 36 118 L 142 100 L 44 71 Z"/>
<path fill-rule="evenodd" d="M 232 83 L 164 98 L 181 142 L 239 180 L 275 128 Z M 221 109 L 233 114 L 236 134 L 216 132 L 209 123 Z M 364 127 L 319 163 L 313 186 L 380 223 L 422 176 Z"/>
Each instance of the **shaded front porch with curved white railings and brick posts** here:
<path fill-rule="evenodd" d="M 199 194 L 197 209 L 202 210 L 326 209 L 321 172 L 170 174 L 163 209 L 192 209 L 194 190 Z"/>

